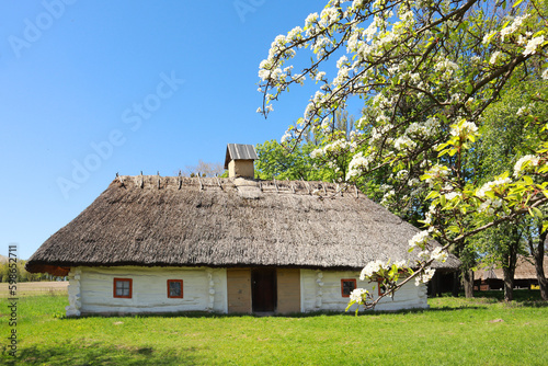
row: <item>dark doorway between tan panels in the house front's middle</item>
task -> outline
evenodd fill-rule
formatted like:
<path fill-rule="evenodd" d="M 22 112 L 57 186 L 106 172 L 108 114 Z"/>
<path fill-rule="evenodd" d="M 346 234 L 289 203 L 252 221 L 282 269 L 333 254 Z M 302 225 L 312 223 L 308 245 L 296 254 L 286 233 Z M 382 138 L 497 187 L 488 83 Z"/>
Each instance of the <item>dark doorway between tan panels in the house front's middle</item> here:
<path fill-rule="evenodd" d="M 253 312 L 276 310 L 276 270 L 254 268 L 251 271 L 251 304 Z"/>

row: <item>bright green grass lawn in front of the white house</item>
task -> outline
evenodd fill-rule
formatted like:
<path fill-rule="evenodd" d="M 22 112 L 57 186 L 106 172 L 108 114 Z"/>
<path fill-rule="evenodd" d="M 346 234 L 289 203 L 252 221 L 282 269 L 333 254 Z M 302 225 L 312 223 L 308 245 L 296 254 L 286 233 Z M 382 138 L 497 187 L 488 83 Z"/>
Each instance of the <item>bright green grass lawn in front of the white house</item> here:
<path fill-rule="evenodd" d="M 536 291 L 538 293 L 538 291 Z M 19 300 L 15 365 L 548 365 L 548 307 L 535 291 L 430 300 L 426 311 L 302 317 L 66 319 L 66 296 Z"/>

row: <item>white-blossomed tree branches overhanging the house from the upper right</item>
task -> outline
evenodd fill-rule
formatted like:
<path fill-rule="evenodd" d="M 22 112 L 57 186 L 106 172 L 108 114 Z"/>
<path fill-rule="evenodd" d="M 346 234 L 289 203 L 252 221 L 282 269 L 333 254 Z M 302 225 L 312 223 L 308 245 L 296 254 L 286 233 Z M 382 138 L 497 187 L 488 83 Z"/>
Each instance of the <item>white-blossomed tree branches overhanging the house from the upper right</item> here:
<path fill-rule="evenodd" d="M 304 116 L 286 133 L 298 144 L 306 131 L 329 134 L 335 111 L 361 98 L 365 113 L 355 133 L 312 156 L 351 151 L 347 183 L 385 171 L 385 205 L 426 203 L 424 230 L 409 241 L 410 250 L 420 250 L 418 263 L 368 264 L 362 279 L 380 279 L 386 291 L 375 299 L 356 290 L 351 304 L 373 308 L 412 278 L 430 279 L 429 266 L 443 261 L 449 245 L 463 247 L 501 222 L 527 215 L 547 229 L 546 88 L 521 101 L 525 133 L 538 137 L 527 140 L 522 156 L 486 182 L 475 179 L 469 164 L 489 106 L 512 82 L 548 79 L 547 16 L 541 0 L 331 0 L 304 27 L 272 43 L 260 65 L 258 112 L 271 113 L 289 85 L 316 82 Z M 299 72 L 286 66 L 310 52 L 310 64 Z M 334 57 L 336 75 L 330 78 Z"/>

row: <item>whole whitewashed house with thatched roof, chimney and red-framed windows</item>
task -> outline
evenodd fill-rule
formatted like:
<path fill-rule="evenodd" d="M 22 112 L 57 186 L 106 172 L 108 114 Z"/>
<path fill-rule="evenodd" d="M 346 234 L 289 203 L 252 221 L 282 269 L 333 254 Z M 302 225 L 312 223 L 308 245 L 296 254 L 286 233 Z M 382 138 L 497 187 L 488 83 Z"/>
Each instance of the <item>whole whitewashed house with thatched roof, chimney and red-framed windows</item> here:
<path fill-rule="evenodd" d="M 354 187 L 254 180 L 254 159 L 231 144 L 229 179 L 117 176 L 26 268 L 69 276 L 67 316 L 290 313 L 343 311 L 369 261 L 415 259 L 418 229 Z M 426 307 L 410 283 L 376 309 Z"/>

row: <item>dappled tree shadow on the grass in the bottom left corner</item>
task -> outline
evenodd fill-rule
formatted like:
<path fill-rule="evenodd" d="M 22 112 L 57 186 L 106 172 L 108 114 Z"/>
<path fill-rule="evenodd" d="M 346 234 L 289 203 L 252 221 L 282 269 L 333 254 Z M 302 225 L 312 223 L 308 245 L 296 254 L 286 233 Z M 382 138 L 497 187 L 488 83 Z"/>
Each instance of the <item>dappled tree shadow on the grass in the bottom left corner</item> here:
<path fill-rule="evenodd" d="M 15 357 L 3 350 L 2 365 L 195 365 L 194 350 L 181 350 L 183 356 L 156 352 L 150 347 L 109 346 L 104 344 L 60 344 L 18 350 Z"/>

